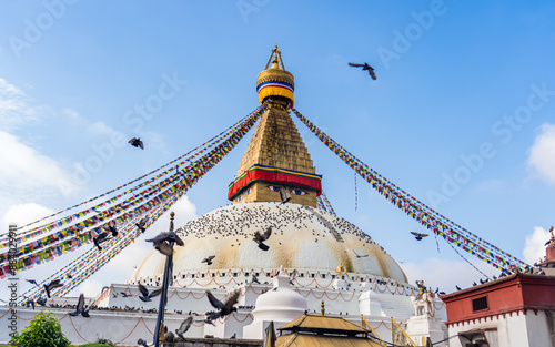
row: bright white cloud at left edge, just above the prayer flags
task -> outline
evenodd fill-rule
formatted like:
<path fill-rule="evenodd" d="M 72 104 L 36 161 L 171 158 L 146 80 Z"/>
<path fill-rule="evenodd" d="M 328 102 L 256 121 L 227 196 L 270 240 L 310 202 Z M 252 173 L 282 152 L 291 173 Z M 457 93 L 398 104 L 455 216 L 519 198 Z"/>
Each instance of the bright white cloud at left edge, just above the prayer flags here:
<path fill-rule="evenodd" d="M 0 131 L 0 187 L 58 187 L 59 180 L 70 181 L 70 174 L 53 159 L 7 132 Z"/>

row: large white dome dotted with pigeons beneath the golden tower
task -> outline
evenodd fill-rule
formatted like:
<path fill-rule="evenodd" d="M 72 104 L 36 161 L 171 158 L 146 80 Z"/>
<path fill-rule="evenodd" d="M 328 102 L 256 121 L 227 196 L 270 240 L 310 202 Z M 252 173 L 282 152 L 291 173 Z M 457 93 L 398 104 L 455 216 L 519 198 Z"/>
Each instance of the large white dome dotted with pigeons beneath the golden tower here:
<path fill-rule="evenodd" d="M 253 235 L 270 226 L 272 235 L 265 242 L 270 249 L 264 252 Z M 344 264 L 350 274 L 406 283 L 398 264 L 369 235 L 343 218 L 305 205 L 244 203 L 220 207 L 186 223 L 178 234 L 185 245 L 174 248 L 174 274 L 276 271 L 281 265 L 335 274 L 337 265 Z M 215 255 L 212 265 L 201 263 L 210 255 Z M 154 251 L 132 280 L 161 277 L 165 257 Z"/>

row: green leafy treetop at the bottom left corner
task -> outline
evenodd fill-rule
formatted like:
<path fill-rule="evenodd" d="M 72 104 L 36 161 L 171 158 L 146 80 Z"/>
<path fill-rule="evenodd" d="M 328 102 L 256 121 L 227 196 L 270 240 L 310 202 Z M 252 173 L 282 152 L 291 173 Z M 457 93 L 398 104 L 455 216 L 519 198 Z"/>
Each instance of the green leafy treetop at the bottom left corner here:
<path fill-rule="evenodd" d="M 21 333 L 11 338 L 10 344 L 23 347 L 68 347 L 70 341 L 63 335 L 62 325 L 53 313 L 39 312 Z"/>

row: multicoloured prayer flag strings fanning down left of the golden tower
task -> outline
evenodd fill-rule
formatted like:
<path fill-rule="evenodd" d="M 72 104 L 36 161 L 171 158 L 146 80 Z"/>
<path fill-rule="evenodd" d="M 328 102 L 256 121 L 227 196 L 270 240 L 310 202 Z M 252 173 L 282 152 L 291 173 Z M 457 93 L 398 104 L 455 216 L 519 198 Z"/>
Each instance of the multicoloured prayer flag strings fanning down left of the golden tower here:
<path fill-rule="evenodd" d="M 176 201 L 174 196 L 178 196 L 176 198 L 181 197 L 209 170 L 218 164 L 239 143 L 239 141 L 243 139 L 266 108 L 268 103 L 264 103 L 255 111 L 251 112 L 248 116 L 243 118 L 243 120 L 235 123 L 232 127 L 224 131 L 222 134 L 225 134 L 225 137 L 220 134 L 216 136 L 218 141 L 209 141 L 205 142 L 208 145 L 203 147 L 199 146 L 198 149 L 200 150 L 195 156 L 199 156 L 200 154 L 204 155 L 198 157 L 195 161 L 192 161 L 191 157 L 189 157 L 188 160 L 178 163 L 178 167 L 182 166 L 182 169 L 178 172 L 174 170 L 175 165 L 172 165 L 168 170 L 157 174 L 148 181 L 139 183 L 137 186 L 131 187 L 115 197 L 99 204 L 98 207 L 94 206 L 72 214 L 69 217 L 58 221 L 56 225 L 47 224 L 46 226 L 36 228 L 36 231 L 40 231 L 38 234 L 29 233 L 28 235 L 37 236 L 44 234 L 47 231 L 52 231 L 53 228 L 57 228 L 57 231 L 51 232 L 39 239 L 29 241 L 18 247 L 16 271 L 26 271 L 34 265 L 50 262 L 56 257 L 73 252 L 85 244 L 90 244 L 92 238 L 100 234 L 105 224 L 115 222 L 121 232 L 121 236 L 118 237 L 118 242 L 122 239 L 125 239 L 125 242 L 121 242 L 119 246 L 113 248 L 110 247 L 115 245 L 118 243 L 117 241 L 112 239 L 112 243 L 107 243 L 107 249 L 110 251 L 107 252 L 108 255 L 103 254 L 102 256 L 107 256 L 108 261 L 111 259 L 111 257 L 117 255 L 121 249 L 129 245 L 134 237 L 138 236 L 137 228 L 133 225 L 139 216 L 150 213 L 150 223 L 155 222 L 155 220 L 161 215 L 161 213 L 159 214 L 160 210 L 157 208 L 162 205 L 168 205 L 167 208 L 169 208 L 169 206 Z M 175 161 L 170 163 L 173 164 Z M 168 166 L 168 164 L 159 167 L 158 171 L 165 166 Z M 157 172 L 157 170 L 151 173 L 154 172 Z M 144 175 L 142 177 L 144 177 Z M 139 180 L 133 180 L 131 182 L 137 183 L 138 181 Z M 120 186 L 119 188 L 123 186 Z M 142 190 L 134 193 L 134 191 L 140 188 Z M 130 192 L 133 192 L 133 196 L 121 201 L 121 197 Z M 99 196 L 104 195 L 105 194 Z M 120 200 L 120 202 L 118 202 L 118 200 Z M 102 208 L 102 211 L 100 208 Z M 153 211 L 158 212 L 153 213 Z M 32 237 L 33 236 L 29 236 L 29 238 Z M 23 237 L 22 239 L 29 238 Z M 65 266 L 64 269 L 58 272 L 57 275 L 60 276 L 62 273 L 65 275 L 75 274 L 80 269 L 82 271 L 82 268 L 91 263 L 91 261 L 95 261 L 97 264 L 100 264 L 100 267 L 103 266 L 107 262 L 98 262 L 99 254 L 95 256 L 93 255 L 95 252 L 98 252 L 95 248 L 89 249 L 89 252 L 85 253 L 85 256 L 81 257 L 79 262 L 72 262 L 70 265 Z M 0 254 L 0 278 L 4 278 L 10 271 L 9 259 L 10 256 L 8 252 Z M 98 268 L 91 267 L 81 276 L 72 276 L 72 280 L 70 282 L 71 285 L 68 285 L 64 288 L 79 285 L 79 283 L 94 273 Z M 88 272 L 92 273 L 89 274 Z M 33 290 L 37 289 L 33 288 Z"/>

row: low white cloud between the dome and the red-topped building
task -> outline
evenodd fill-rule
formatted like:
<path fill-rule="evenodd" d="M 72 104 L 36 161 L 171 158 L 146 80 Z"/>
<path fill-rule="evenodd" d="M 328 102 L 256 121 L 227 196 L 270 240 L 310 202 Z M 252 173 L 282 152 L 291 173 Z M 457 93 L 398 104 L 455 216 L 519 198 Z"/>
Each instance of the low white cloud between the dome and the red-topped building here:
<path fill-rule="evenodd" d="M 443 261 L 440 258 L 427 258 L 423 263 L 404 263 L 401 267 L 408 277 L 408 283 L 414 285 L 416 279 L 424 279 L 424 285 L 436 288 L 445 293 L 455 292 L 455 285 L 461 288 L 466 288 L 473 282 L 478 282 L 484 278 L 476 269 L 464 262 Z M 487 276 L 497 275 L 500 273 L 493 267 L 487 269 L 480 268 Z"/>

